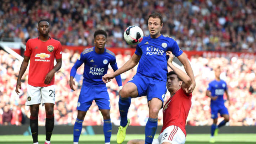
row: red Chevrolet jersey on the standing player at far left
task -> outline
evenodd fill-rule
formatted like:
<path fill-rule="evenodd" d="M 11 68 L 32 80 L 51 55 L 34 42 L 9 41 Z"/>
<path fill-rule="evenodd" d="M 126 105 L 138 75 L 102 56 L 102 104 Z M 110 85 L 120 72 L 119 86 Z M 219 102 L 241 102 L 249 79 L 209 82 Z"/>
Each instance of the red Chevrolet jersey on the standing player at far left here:
<path fill-rule="evenodd" d="M 32 86 L 54 85 L 54 76 L 49 85 L 44 84 L 46 75 L 54 68 L 54 59 L 62 58 L 62 45 L 50 38 L 43 42 L 38 38 L 29 39 L 24 55 L 30 57 L 28 84 Z"/>

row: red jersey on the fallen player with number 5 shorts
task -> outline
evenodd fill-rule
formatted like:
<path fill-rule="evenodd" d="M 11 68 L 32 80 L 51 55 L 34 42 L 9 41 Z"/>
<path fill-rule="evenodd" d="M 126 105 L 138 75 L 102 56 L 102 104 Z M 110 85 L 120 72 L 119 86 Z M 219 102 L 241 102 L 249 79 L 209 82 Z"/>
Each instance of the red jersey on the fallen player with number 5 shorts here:
<path fill-rule="evenodd" d="M 169 98 L 163 107 L 164 124 L 161 133 L 169 126 L 178 126 L 187 136 L 185 125 L 191 107 L 191 97 L 192 94 L 187 95 L 181 88 Z"/>

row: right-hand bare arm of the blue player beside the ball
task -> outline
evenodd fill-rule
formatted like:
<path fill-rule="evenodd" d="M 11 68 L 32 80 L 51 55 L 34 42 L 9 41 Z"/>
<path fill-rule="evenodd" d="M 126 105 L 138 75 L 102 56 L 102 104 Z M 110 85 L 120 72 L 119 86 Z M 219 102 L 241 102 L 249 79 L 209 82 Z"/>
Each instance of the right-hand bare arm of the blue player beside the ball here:
<path fill-rule="evenodd" d="M 191 78 L 192 80 L 192 84 L 190 85 L 190 87 L 188 88 L 189 92 L 193 92 L 194 88 L 196 87 L 196 81 L 194 79 L 194 73 L 193 70 L 191 68 L 190 63 L 188 62 L 188 59 L 186 57 L 186 55 L 184 53 L 182 53 L 180 56 L 177 57 L 180 62 L 183 64 L 184 69 L 187 73 L 187 75 Z"/>

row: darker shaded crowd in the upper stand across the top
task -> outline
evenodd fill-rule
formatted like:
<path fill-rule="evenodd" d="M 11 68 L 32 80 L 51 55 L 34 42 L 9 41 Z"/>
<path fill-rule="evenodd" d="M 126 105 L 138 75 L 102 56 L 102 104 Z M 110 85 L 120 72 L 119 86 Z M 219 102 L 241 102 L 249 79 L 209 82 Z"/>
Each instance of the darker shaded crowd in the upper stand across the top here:
<path fill-rule="evenodd" d="M 38 36 L 37 22 L 47 19 L 50 36 L 63 45 L 92 46 L 90 33 L 103 29 L 107 47 L 126 48 L 126 27 L 137 25 L 149 34 L 152 12 L 162 14 L 162 34 L 183 50 L 256 52 L 254 0 L 1 0 L 0 39 L 25 43 Z"/>

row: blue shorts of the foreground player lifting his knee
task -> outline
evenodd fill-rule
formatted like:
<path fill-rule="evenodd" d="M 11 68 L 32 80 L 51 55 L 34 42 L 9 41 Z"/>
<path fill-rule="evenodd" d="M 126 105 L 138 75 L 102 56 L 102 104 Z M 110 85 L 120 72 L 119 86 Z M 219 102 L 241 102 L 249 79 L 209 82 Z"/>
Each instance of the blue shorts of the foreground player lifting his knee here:
<path fill-rule="evenodd" d="M 162 103 L 164 103 L 164 98 L 166 94 L 166 82 L 154 78 L 149 78 L 141 75 L 134 75 L 132 82 L 137 86 L 138 97 L 147 96 L 148 101 L 152 98 L 159 98 Z"/>

